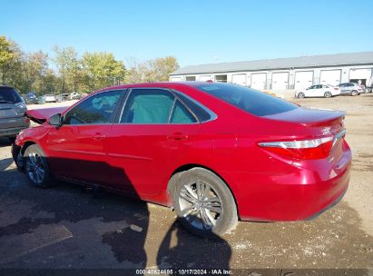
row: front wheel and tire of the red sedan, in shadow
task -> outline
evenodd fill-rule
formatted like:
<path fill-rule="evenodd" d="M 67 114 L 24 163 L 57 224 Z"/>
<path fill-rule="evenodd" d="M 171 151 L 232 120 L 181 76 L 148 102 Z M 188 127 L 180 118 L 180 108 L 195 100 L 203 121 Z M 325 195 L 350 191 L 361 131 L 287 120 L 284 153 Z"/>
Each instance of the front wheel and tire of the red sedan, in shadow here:
<path fill-rule="evenodd" d="M 54 185 L 45 153 L 37 144 L 29 145 L 25 149 L 24 169 L 34 187 L 48 188 Z"/>

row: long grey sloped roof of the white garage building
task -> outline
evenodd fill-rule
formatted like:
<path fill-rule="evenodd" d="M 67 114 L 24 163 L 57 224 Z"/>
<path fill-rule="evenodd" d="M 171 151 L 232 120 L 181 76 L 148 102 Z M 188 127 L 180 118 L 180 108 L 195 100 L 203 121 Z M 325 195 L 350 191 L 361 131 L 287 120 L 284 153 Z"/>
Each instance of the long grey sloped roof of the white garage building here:
<path fill-rule="evenodd" d="M 289 58 L 262 59 L 246 62 L 190 65 L 176 70 L 177 74 L 211 74 L 240 71 L 324 67 L 352 64 L 373 64 L 373 52 L 323 54 Z"/>

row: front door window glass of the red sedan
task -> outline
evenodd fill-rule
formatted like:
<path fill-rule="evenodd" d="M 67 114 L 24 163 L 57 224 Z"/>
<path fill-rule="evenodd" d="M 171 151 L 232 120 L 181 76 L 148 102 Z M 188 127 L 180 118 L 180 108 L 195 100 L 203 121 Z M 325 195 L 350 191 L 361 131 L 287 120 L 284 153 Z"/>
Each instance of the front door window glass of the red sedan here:
<path fill-rule="evenodd" d="M 64 115 L 64 124 L 109 123 L 122 90 L 95 94 Z"/>

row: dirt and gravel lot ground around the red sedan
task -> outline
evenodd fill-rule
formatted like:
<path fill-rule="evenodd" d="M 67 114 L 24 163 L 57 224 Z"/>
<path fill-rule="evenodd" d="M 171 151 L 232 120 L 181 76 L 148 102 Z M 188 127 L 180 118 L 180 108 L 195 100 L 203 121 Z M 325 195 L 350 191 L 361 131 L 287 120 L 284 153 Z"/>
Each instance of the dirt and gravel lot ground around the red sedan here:
<path fill-rule="evenodd" d="M 292 101 L 347 112 L 348 192 L 319 218 L 240 222 L 224 239 L 202 240 L 164 207 L 64 182 L 35 189 L 1 140 L 0 268 L 372 269 L 373 94 Z"/>

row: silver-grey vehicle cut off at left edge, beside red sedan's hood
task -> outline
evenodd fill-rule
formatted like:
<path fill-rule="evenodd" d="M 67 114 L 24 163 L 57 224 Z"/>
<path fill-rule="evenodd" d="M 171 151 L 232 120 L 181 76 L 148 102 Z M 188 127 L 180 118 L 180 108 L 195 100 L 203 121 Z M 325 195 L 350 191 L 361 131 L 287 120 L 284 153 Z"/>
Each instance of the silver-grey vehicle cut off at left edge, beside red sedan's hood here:
<path fill-rule="evenodd" d="M 30 120 L 25 117 L 26 110 L 26 104 L 15 88 L 0 85 L 0 137 L 13 142 L 20 131 L 30 126 Z"/>

